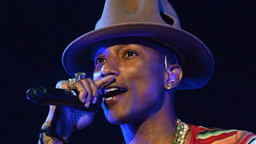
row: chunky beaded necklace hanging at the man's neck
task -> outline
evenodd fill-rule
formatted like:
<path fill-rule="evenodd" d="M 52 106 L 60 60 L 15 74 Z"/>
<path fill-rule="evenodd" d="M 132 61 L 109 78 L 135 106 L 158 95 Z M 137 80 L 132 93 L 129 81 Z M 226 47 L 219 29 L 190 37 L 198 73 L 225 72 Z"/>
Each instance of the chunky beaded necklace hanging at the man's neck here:
<path fill-rule="evenodd" d="M 175 140 L 173 141 L 174 144 L 183 144 L 185 142 L 185 136 L 187 132 L 190 130 L 189 126 L 186 123 L 183 123 L 180 119 L 177 119 L 177 133 L 175 133 Z"/>

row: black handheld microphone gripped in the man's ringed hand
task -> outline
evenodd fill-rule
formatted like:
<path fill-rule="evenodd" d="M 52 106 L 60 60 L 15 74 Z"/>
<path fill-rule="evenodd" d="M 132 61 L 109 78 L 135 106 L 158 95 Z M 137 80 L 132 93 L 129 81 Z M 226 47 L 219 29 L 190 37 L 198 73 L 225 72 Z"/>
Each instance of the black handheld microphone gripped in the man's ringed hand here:
<path fill-rule="evenodd" d="M 79 92 L 71 89 L 59 88 L 44 88 L 36 87 L 30 88 L 27 91 L 27 99 L 36 104 L 44 105 L 66 105 L 70 107 L 83 108 L 87 111 L 97 110 L 101 103 L 102 98 L 99 98 L 96 104 L 90 104 L 89 108 L 79 101 Z"/>

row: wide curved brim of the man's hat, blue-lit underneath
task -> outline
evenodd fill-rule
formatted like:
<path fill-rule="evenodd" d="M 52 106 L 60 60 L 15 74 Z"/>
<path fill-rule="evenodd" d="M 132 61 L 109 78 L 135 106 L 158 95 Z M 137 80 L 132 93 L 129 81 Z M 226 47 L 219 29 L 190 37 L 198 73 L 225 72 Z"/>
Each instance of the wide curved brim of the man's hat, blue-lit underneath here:
<path fill-rule="evenodd" d="M 100 28 L 78 37 L 66 47 L 62 63 L 69 75 L 76 72 L 93 73 L 94 62 L 91 48 L 102 40 L 118 37 L 148 37 L 175 47 L 184 59 L 183 79 L 177 89 L 201 88 L 212 76 L 212 53 L 197 37 L 167 24 L 124 23 Z"/>

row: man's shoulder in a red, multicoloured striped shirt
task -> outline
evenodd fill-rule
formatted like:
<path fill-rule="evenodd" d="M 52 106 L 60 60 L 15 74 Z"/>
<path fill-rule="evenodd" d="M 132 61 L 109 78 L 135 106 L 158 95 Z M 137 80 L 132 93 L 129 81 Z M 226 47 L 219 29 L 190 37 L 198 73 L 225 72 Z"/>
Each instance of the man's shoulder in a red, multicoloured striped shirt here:
<path fill-rule="evenodd" d="M 196 143 L 256 143 L 256 135 L 244 130 L 190 127 Z"/>

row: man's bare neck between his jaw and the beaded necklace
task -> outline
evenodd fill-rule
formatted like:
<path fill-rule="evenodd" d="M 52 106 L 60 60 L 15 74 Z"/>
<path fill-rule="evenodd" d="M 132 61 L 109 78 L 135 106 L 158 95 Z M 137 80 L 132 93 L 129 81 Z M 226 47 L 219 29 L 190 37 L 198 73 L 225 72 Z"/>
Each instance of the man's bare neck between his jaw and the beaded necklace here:
<path fill-rule="evenodd" d="M 140 123 L 122 124 L 121 130 L 126 143 L 172 143 L 177 132 L 177 117 L 171 105 L 173 104 L 168 101 Z"/>

